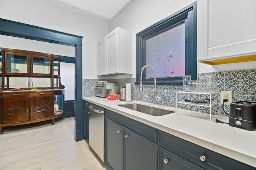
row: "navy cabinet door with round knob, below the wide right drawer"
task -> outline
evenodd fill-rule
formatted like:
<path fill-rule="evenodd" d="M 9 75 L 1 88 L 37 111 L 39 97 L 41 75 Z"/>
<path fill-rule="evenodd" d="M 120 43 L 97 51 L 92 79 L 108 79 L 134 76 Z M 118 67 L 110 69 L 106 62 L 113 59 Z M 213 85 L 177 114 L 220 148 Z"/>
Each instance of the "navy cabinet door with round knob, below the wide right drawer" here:
<path fill-rule="evenodd" d="M 174 152 L 158 147 L 158 170 L 204 170 Z"/>

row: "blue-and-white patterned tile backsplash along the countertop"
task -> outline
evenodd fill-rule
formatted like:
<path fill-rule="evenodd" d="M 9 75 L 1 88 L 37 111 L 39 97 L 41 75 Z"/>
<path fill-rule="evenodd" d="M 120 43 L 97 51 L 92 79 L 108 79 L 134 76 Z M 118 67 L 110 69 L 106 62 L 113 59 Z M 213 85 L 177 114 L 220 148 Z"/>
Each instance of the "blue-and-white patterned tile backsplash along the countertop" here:
<path fill-rule="evenodd" d="M 232 101 L 256 101 L 256 69 L 237 70 L 237 71 L 219 71 L 213 73 L 198 73 L 198 77 L 202 75 L 215 75 L 217 77 L 218 91 L 232 91 Z M 95 83 L 98 79 L 83 79 L 83 97 L 95 96 Z M 101 80 L 102 81 L 102 80 Z M 154 98 L 146 98 L 144 95 L 153 95 L 153 87 L 144 87 L 140 91 L 139 85 L 135 85 L 136 78 L 127 79 L 111 79 L 106 81 L 114 81 L 120 86 L 125 87 L 126 83 L 132 84 L 132 100 L 155 103 L 158 105 L 166 105 L 176 107 L 176 92 L 182 90 L 182 86 L 178 85 L 157 85 L 157 95 L 162 97 L 160 101 Z M 220 101 L 219 96 L 214 99 Z M 188 106 L 180 106 L 186 109 Z M 218 114 L 220 105 L 213 106 L 214 114 Z M 227 113 L 230 111 L 230 105 L 224 105 Z M 205 107 L 191 107 L 190 110 L 209 113 L 209 109 Z M 225 113 L 221 109 L 222 116 Z"/>

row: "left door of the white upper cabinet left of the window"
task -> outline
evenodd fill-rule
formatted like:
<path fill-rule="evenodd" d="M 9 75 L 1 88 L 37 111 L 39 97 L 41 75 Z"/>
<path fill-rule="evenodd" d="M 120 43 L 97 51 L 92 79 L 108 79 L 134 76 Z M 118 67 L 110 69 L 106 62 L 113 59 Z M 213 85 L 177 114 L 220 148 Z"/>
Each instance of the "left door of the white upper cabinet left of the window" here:
<path fill-rule="evenodd" d="M 106 41 L 105 38 L 97 43 L 97 75 L 106 74 Z"/>

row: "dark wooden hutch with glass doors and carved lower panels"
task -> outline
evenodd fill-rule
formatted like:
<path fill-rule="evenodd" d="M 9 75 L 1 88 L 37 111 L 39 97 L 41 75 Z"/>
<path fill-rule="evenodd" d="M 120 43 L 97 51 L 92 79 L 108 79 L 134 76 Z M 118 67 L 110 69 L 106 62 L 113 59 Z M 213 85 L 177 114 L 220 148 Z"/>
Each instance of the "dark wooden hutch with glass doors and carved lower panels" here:
<path fill-rule="evenodd" d="M 64 119 L 60 57 L 0 48 L 0 134 L 4 127 Z"/>

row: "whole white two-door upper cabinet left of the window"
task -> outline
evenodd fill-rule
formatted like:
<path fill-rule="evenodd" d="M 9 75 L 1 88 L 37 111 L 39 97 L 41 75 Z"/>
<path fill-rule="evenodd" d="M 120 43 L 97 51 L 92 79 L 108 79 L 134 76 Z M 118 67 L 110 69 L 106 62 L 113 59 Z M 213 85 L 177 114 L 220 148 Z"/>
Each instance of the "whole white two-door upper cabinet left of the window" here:
<path fill-rule="evenodd" d="M 132 74 L 132 32 L 117 27 L 97 43 L 97 75 Z"/>

